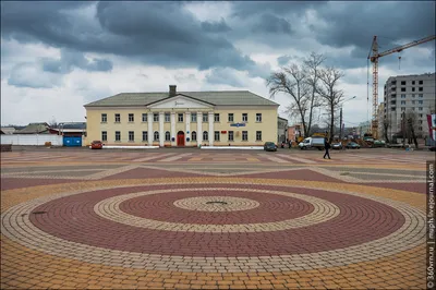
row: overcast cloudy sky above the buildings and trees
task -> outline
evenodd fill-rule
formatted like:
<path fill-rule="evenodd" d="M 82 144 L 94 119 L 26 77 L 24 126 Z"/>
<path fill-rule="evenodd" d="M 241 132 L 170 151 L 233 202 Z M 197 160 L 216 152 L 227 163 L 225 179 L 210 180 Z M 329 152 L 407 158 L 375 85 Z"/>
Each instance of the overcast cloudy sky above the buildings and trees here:
<path fill-rule="evenodd" d="M 384 51 L 434 34 L 434 1 L 2 1 L 1 124 L 84 122 L 87 102 L 170 84 L 269 98 L 265 77 L 314 51 L 343 70 L 352 126 L 368 118 L 373 36 Z M 434 71 L 435 41 L 382 58 L 379 101 L 387 77 Z"/>

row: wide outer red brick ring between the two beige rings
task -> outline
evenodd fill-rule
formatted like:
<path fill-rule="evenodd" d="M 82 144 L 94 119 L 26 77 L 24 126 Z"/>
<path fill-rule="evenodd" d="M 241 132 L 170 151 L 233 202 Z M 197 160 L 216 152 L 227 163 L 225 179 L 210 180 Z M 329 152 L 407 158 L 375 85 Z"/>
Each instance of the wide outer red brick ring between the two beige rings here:
<path fill-rule="evenodd" d="M 207 186 L 220 185 L 222 184 Z M 196 188 L 198 184 L 186 185 L 190 186 Z M 299 229 L 250 233 L 202 233 L 131 227 L 101 219 L 94 213 L 94 205 L 101 200 L 131 192 L 167 188 L 180 188 L 180 185 L 111 189 L 68 196 L 37 207 L 34 212 L 48 213 L 31 214 L 31 221 L 45 232 L 78 243 L 120 251 L 186 256 L 314 253 L 370 242 L 397 231 L 404 223 L 404 217 L 397 209 L 371 200 L 336 192 L 254 184 L 244 188 L 290 191 L 317 196 L 336 204 L 340 208 L 340 214 L 328 221 Z M 160 196 L 166 198 L 164 194 Z M 275 215 L 274 212 L 270 214 Z M 197 216 L 197 213 L 193 212 L 192 216 Z"/>

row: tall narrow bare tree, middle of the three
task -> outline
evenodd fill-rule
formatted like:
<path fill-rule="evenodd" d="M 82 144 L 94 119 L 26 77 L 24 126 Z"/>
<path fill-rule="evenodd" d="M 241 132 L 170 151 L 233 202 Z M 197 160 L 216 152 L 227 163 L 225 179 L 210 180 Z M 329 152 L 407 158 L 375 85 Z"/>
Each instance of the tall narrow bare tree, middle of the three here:
<path fill-rule="evenodd" d="M 320 102 L 318 101 L 318 92 L 317 92 L 317 86 L 319 83 L 319 71 L 320 71 L 320 65 L 323 62 L 326 60 L 326 58 L 323 55 L 317 55 L 315 52 L 312 52 L 311 56 L 305 59 L 304 61 L 304 71 L 307 72 L 307 77 L 306 82 L 307 85 L 310 86 L 311 95 L 310 95 L 310 109 L 308 109 L 308 122 L 307 122 L 307 132 L 311 133 L 312 129 L 312 121 L 313 121 L 313 114 L 314 114 L 314 108 L 319 107 Z"/>

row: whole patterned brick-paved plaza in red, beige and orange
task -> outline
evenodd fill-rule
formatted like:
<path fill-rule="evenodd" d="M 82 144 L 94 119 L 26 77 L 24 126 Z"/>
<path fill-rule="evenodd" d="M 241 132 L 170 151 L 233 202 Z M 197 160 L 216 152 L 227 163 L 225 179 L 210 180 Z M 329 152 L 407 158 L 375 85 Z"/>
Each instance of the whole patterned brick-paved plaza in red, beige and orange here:
<path fill-rule="evenodd" d="M 425 288 L 431 152 L 1 154 L 1 289 Z"/>

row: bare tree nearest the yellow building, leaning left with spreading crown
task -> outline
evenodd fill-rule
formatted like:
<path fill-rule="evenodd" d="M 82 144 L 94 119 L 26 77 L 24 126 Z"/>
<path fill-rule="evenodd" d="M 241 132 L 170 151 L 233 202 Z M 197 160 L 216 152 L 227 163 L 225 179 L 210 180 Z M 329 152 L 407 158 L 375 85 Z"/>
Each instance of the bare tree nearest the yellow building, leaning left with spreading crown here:
<path fill-rule="evenodd" d="M 305 116 L 310 106 L 307 75 L 303 68 L 291 64 L 280 72 L 272 73 L 267 80 L 271 98 L 278 93 L 291 96 L 291 105 L 287 108 L 291 116 L 299 116 L 303 124 L 304 135 L 307 136 Z"/>

